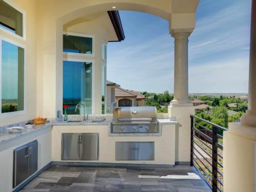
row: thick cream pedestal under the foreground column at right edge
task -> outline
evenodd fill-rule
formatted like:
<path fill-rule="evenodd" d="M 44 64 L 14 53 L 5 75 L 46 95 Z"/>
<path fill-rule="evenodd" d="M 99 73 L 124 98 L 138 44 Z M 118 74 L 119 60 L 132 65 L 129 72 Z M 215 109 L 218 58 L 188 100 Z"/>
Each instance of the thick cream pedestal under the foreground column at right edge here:
<path fill-rule="evenodd" d="M 230 123 L 223 134 L 224 191 L 255 191 L 256 129 Z"/>

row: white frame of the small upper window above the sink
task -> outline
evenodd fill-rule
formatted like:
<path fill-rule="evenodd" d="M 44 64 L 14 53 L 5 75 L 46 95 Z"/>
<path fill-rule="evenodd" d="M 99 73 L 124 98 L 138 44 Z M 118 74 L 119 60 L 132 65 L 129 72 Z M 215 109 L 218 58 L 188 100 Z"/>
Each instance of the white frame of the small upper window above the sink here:
<path fill-rule="evenodd" d="M 92 38 L 92 54 L 79 53 L 79 52 L 64 52 L 63 51 L 63 44 L 62 44 L 63 56 L 64 55 L 67 55 L 67 56 L 88 56 L 88 57 L 94 57 L 95 56 L 95 35 L 88 35 L 88 34 L 84 34 L 84 33 L 74 33 L 74 32 L 68 32 L 68 31 L 63 32 L 62 38 L 63 38 L 63 35 L 81 36 L 81 37 Z"/>

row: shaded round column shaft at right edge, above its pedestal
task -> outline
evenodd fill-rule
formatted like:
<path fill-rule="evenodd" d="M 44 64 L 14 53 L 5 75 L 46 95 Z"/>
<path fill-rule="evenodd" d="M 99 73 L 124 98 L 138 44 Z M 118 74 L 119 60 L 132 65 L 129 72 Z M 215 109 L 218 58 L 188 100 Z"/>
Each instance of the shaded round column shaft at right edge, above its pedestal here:
<path fill-rule="evenodd" d="M 252 1 L 248 111 L 241 116 L 245 125 L 256 127 L 256 0 Z"/>

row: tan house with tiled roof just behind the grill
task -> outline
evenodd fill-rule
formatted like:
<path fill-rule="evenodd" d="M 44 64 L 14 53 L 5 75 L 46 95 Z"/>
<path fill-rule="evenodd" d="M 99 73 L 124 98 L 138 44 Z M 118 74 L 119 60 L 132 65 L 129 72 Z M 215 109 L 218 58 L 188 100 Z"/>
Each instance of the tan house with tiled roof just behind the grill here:
<path fill-rule="evenodd" d="M 139 92 L 125 90 L 120 84 L 107 81 L 107 111 L 111 113 L 115 107 L 144 106 L 145 97 Z"/>

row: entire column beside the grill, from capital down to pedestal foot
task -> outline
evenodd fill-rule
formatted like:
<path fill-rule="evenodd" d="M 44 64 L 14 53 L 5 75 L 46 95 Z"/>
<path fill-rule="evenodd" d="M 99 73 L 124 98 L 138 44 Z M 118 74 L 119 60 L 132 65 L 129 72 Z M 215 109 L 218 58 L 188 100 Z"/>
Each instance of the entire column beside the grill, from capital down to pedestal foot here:
<path fill-rule="evenodd" d="M 195 113 L 188 99 L 188 37 L 193 29 L 172 29 L 175 38 L 174 98 L 168 107 L 169 116 L 175 117 L 175 162 L 190 161 L 190 115 Z"/>

